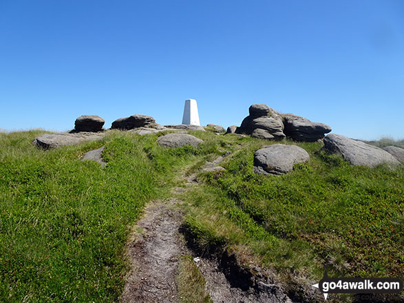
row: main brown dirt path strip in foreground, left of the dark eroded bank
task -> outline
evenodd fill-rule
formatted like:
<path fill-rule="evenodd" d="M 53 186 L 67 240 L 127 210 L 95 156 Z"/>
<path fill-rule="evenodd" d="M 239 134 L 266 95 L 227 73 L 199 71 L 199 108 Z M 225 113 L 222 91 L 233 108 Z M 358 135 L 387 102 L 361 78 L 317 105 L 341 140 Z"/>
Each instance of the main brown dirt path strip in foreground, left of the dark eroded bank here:
<path fill-rule="evenodd" d="M 176 202 L 149 202 L 138 221 L 141 233 L 128 247 L 131 273 L 121 302 L 178 302 L 176 270 L 186 249 L 178 234 L 182 214 L 173 209 Z"/>

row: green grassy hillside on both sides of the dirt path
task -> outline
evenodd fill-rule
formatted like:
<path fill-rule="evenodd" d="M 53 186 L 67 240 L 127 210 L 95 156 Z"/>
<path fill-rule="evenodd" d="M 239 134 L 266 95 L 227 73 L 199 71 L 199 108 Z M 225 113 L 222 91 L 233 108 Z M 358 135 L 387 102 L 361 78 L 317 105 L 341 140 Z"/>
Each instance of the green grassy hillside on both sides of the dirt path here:
<path fill-rule="evenodd" d="M 176 171 L 226 150 L 227 171 L 200 174 L 183 194 L 201 247 L 227 243 L 288 278 L 404 272 L 404 169 L 368 169 L 302 143 L 310 163 L 286 176 L 252 173 L 266 140 L 193 132 L 199 149 L 162 149 L 158 135 L 113 132 L 103 141 L 41 151 L 39 132 L 0 134 L 0 301 L 113 302 L 123 247 L 142 206 L 164 198 Z M 286 142 L 288 143 L 288 142 Z M 105 169 L 78 159 L 105 145 Z M 178 184 L 177 184 L 178 185 Z M 198 233 L 199 231 L 199 233 Z"/>

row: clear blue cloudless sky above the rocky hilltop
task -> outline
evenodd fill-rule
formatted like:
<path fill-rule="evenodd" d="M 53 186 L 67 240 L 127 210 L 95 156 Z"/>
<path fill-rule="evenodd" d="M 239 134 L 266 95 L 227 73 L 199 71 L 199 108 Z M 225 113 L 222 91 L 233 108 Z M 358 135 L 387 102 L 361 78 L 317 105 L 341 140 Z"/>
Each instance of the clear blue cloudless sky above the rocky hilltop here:
<path fill-rule="evenodd" d="M 0 128 L 153 116 L 240 125 L 253 103 L 404 138 L 404 1 L 0 0 Z"/>

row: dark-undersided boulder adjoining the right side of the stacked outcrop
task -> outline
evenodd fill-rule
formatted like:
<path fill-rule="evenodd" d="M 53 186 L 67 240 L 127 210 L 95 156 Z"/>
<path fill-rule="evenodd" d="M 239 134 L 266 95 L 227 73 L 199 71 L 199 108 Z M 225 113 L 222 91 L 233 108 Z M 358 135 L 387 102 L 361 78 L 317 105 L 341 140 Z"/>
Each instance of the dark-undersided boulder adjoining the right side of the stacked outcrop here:
<path fill-rule="evenodd" d="M 284 134 L 297 141 L 317 141 L 331 132 L 331 127 L 324 123 L 312 122 L 294 114 L 283 114 Z"/>

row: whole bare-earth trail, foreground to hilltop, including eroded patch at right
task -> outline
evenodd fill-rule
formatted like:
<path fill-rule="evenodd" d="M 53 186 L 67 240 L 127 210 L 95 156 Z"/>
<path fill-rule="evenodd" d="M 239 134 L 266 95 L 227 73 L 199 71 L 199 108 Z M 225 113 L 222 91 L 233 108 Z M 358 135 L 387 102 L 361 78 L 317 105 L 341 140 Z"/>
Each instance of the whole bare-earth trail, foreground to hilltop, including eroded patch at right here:
<path fill-rule="evenodd" d="M 201 169 L 215 167 L 226 156 L 228 154 L 206 163 Z M 190 176 L 182 175 L 181 178 L 186 181 L 185 187 L 174 188 L 173 196 L 192 186 L 198 186 L 196 173 Z M 192 255 L 179 231 L 183 214 L 176 205 L 181 202 L 176 198 L 167 201 L 154 200 L 145 208 L 144 215 L 136 224 L 137 231 L 132 237 L 134 240 L 129 242 L 127 248 L 131 272 L 125 281 L 120 302 L 180 301 L 176 286 L 178 264 L 181 255 Z M 215 303 L 292 302 L 274 284 L 257 282 L 255 288 L 247 286 L 246 289 L 240 289 L 240 285 L 235 285 L 231 281 L 231 275 L 228 275 L 231 269 L 215 260 L 201 258 L 198 267 L 206 280 L 206 292 Z"/>

